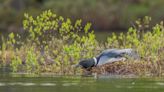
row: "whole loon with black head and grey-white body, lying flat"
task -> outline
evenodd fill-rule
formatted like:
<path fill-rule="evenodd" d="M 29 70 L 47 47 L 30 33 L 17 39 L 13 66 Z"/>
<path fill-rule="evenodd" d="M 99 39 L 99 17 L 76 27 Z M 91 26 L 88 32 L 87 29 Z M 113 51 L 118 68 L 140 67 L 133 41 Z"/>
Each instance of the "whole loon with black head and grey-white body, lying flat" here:
<path fill-rule="evenodd" d="M 118 61 L 125 61 L 128 58 L 139 59 L 138 53 L 131 49 L 106 49 L 102 51 L 99 55 L 80 60 L 78 64 L 75 64 L 74 67 L 81 67 L 83 69 L 90 70 L 92 67 L 102 66 L 104 64 L 110 64 Z"/>

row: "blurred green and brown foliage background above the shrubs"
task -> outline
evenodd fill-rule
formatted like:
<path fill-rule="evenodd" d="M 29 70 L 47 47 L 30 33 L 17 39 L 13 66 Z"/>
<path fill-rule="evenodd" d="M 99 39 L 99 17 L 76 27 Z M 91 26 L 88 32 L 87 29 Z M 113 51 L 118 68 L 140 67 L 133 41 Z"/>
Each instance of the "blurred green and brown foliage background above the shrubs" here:
<path fill-rule="evenodd" d="M 163 0 L 1 0 L 1 31 L 18 31 L 24 12 L 34 16 L 51 9 L 72 21 L 90 21 L 95 29 L 127 29 L 133 21 L 144 16 L 152 24 L 163 20 Z"/>

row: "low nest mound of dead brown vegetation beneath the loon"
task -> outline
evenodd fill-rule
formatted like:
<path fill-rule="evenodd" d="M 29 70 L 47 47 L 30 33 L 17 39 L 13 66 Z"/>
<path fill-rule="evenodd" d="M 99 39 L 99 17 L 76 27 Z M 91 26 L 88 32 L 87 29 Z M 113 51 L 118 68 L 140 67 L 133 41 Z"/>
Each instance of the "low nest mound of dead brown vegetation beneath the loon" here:
<path fill-rule="evenodd" d="M 94 67 L 92 73 L 115 74 L 115 75 L 137 75 L 137 76 L 160 76 L 164 72 L 163 62 L 149 61 L 122 61 Z"/>

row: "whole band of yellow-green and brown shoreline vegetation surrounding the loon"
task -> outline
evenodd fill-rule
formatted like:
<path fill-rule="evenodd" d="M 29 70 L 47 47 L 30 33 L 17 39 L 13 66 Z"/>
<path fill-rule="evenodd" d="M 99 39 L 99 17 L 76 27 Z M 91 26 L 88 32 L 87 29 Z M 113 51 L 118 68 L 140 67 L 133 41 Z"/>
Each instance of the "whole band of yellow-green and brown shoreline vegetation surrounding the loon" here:
<path fill-rule="evenodd" d="M 72 65 L 80 59 L 93 57 L 107 48 L 133 48 L 141 56 L 140 61 L 105 65 L 93 72 L 164 74 L 163 22 L 151 29 L 148 26 L 151 18 L 146 16 L 137 20 L 127 33 L 113 33 L 102 44 L 96 40 L 91 23 L 84 25 L 81 19 L 72 22 L 50 10 L 36 17 L 25 13 L 24 18 L 26 36 L 10 33 L 7 38 L 2 37 L 0 59 L 13 72 L 77 74 L 82 71 Z"/>

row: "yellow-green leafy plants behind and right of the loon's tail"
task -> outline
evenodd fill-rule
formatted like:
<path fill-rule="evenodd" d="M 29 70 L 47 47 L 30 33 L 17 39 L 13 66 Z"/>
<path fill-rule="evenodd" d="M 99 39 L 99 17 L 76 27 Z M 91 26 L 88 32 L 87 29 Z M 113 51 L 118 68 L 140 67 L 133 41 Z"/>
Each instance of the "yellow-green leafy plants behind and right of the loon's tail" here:
<path fill-rule="evenodd" d="M 151 18 L 146 16 L 143 21 L 141 19 L 136 21 L 137 27 L 129 28 L 127 33 L 120 33 L 119 35 L 113 33 L 112 36 L 107 38 L 106 46 L 109 48 L 135 49 L 141 57 L 140 61 L 142 62 L 140 64 L 144 65 L 146 69 L 144 70 L 145 72 L 140 69 L 136 70 L 139 71 L 138 74 L 147 72 L 151 74 L 153 72 L 153 74 L 161 75 L 160 71 L 162 71 L 161 67 L 163 67 L 163 59 L 161 58 L 163 49 L 161 50 L 161 48 L 164 48 L 164 27 L 163 22 L 161 22 L 151 29 L 149 27 L 150 20 Z M 135 64 L 132 66 L 135 67 Z"/>

